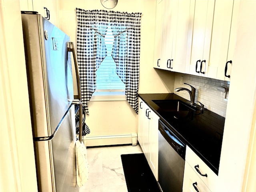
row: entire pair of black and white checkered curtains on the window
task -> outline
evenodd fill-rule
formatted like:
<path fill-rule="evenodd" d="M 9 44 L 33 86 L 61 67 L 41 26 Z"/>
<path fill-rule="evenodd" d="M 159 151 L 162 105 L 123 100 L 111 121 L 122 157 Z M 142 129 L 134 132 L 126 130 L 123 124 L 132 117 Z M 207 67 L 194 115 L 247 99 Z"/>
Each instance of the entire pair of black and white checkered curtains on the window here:
<path fill-rule="evenodd" d="M 112 57 L 116 73 L 126 85 L 127 101 L 138 113 L 141 15 L 76 8 L 77 57 L 87 114 L 87 104 L 96 90 L 96 70 L 107 54 L 104 37 L 109 22 L 114 35 Z"/>

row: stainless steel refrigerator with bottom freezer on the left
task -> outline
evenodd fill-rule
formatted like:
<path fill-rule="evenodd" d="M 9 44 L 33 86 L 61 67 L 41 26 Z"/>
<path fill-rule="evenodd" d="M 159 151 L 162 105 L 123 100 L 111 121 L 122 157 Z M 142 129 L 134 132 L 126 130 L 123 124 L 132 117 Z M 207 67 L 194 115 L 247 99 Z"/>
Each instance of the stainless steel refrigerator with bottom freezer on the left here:
<path fill-rule="evenodd" d="M 22 27 L 38 189 L 78 191 L 70 38 L 35 12 L 22 14 Z"/>

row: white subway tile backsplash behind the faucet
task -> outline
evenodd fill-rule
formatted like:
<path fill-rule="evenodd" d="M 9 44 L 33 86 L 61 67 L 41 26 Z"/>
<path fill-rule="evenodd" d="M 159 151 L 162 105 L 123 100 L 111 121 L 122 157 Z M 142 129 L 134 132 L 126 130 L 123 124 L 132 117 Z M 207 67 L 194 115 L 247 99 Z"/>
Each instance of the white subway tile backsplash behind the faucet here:
<path fill-rule="evenodd" d="M 196 88 L 196 101 L 204 104 L 204 107 L 208 110 L 226 117 L 226 108 L 228 99 L 220 97 L 220 92 L 217 90 L 219 86 L 227 86 L 230 84 L 228 81 L 216 80 L 212 78 L 188 75 L 188 74 L 175 74 L 174 88 L 185 87 L 190 89 L 187 85 L 180 84 L 180 76 L 183 76 L 184 83 L 188 83 Z M 228 90 L 227 90 L 228 91 Z M 186 91 L 175 92 L 175 94 L 190 100 L 190 96 Z M 228 95 L 228 92 L 227 92 Z"/>

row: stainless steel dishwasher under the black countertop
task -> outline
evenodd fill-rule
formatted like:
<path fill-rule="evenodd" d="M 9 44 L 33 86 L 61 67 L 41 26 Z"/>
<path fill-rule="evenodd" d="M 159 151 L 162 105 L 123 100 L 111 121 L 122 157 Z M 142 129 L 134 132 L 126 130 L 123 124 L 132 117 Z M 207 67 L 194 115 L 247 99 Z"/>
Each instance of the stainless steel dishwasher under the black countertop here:
<path fill-rule="evenodd" d="M 158 182 L 163 192 L 182 192 L 186 145 L 161 120 L 158 142 Z"/>

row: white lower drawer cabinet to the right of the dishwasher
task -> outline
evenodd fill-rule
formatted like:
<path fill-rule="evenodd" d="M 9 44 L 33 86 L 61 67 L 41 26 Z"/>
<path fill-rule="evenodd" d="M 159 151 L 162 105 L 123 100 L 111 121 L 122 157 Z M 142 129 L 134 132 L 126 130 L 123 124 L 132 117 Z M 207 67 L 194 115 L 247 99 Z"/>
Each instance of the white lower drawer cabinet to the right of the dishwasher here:
<path fill-rule="evenodd" d="M 196 190 L 188 190 L 190 188 L 194 189 L 194 186 L 191 186 L 191 182 L 198 183 L 198 190 L 199 190 L 199 183 L 204 184 L 207 186 L 208 190 L 199 190 L 200 192 L 204 191 L 211 191 L 211 192 L 219 192 L 220 188 L 218 185 L 218 176 L 188 147 L 186 146 L 186 162 L 185 162 L 185 170 L 184 170 L 184 180 L 183 180 L 183 191 L 196 191 Z M 196 166 L 196 167 L 195 167 Z M 199 174 L 206 176 L 202 176 Z M 195 177 L 196 175 L 197 177 Z M 195 180 L 198 178 L 198 181 Z"/>

